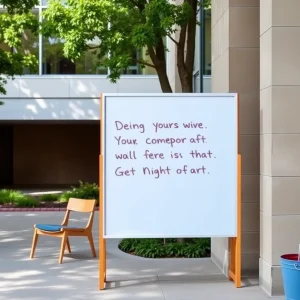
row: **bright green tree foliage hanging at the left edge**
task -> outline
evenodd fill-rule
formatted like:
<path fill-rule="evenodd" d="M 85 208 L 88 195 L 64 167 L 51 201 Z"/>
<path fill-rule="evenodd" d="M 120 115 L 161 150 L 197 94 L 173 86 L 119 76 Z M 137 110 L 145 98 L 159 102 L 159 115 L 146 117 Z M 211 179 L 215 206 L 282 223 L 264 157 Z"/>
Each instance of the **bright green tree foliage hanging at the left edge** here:
<path fill-rule="evenodd" d="M 36 54 L 24 51 L 24 34 L 37 34 L 38 20 L 31 9 L 38 0 L 0 0 L 0 94 L 7 79 L 22 75 L 24 68 L 33 69 L 37 65 Z M 0 104 L 3 104 L 0 102 Z"/>

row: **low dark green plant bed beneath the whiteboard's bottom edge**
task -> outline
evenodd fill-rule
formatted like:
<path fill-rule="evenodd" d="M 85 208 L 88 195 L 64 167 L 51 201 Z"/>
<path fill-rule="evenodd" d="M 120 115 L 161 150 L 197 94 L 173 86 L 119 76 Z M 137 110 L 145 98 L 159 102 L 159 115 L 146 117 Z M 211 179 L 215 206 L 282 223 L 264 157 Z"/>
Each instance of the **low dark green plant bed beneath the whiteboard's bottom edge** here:
<path fill-rule="evenodd" d="M 148 258 L 207 257 L 210 254 L 210 238 L 186 239 L 124 239 L 119 244 L 124 252 Z"/>

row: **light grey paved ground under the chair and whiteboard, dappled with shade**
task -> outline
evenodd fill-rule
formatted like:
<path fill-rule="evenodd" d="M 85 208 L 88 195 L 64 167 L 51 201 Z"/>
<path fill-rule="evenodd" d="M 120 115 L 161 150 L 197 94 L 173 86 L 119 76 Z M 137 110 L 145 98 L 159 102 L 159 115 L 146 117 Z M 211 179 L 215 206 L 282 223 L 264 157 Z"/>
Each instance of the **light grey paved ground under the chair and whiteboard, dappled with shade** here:
<path fill-rule="evenodd" d="M 256 278 L 236 289 L 209 259 L 145 259 L 123 253 L 107 241 L 107 285 L 98 290 L 98 259 L 87 239 L 70 238 L 72 254 L 58 264 L 60 239 L 40 237 L 29 259 L 33 224 L 59 224 L 64 212 L 0 213 L 0 300 L 266 300 Z M 87 215 L 74 214 L 71 224 Z M 98 213 L 93 234 L 98 251 Z M 284 297 L 277 297 L 283 300 Z"/>

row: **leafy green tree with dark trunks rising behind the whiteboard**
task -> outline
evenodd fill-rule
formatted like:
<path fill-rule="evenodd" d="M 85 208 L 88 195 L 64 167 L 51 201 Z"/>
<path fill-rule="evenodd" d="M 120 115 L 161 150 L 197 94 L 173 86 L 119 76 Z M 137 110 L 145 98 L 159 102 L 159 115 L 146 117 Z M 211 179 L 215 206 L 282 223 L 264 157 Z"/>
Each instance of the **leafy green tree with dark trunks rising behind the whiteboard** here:
<path fill-rule="evenodd" d="M 72 60 L 97 48 L 99 65 L 110 68 L 112 82 L 135 61 L 142 68 L 154 68 L 162 91 L 172 92 L 166 68 L 167 37 L 176 46 L 182 91 L 192 92 L 201 5 L 208 7 L 210 0 L 183 0 L 182 4 L 170 0 L 52 0 L 44 14 L 47 22 L 42 32 L 65 40 L 64 55 Z M 95 39 L 99 44 L 89 46 Z M 133 49 L 146 49 L 150 60 L 133 58 Z"/>

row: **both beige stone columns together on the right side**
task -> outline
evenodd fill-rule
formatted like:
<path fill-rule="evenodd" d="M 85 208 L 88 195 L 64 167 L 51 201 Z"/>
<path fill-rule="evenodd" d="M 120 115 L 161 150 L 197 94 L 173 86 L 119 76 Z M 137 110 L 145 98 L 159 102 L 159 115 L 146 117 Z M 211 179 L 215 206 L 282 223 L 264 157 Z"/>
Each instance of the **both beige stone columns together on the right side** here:
<path fill-rule="evenodd" d="M 300 231 L 300 2 L 212 0 L 212 92 L 240 95 L 242 266 L 283 293 L 280 256 Z M 212 257 L 227 268 L 228 240 Z"/>

